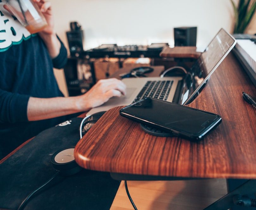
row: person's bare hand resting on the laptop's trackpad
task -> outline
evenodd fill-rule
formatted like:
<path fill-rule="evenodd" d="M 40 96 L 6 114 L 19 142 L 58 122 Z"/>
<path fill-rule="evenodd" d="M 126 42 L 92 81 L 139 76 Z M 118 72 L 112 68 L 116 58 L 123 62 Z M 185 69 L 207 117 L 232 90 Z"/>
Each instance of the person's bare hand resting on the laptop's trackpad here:
<path fill-rule="evenodd" d="M 97 82 L 87 93 L 78 96 L 80 111 L 87 111 L 107 102 L 113 96 L 120 97 L 126 94 L 125 84 L 118 79 L 104 79 Z"/>

